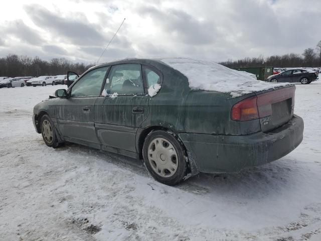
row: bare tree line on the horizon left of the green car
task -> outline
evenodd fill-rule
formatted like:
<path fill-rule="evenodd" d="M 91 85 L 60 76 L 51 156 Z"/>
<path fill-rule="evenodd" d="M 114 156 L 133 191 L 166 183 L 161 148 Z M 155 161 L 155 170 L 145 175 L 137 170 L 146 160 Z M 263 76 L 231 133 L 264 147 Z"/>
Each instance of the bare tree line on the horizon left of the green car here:
<path fill-rule="evenodd" d="M 72 63 L 65 58 L 53 58 L 50 61 L 41 60 L 39 57 L 18 56 L 9 54 L 0 58 L 0 76 L 42 76 L 67 74 L 68 70 L 82 74 L 93 65 Z"/>

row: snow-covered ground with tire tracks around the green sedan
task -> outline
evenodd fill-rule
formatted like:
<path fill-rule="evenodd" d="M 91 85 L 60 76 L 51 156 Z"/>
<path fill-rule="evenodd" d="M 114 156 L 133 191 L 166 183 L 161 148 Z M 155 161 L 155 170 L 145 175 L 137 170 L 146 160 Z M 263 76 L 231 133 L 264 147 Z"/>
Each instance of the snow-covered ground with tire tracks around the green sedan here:
<path fill-rule="evenodd" d="M 0 240 L 321 240 L 321 81 L 296 85 L 296 150 L 176 187 L 134 159 L 47 147 L 33 106 L 62 87 L 0 89 Z"/>

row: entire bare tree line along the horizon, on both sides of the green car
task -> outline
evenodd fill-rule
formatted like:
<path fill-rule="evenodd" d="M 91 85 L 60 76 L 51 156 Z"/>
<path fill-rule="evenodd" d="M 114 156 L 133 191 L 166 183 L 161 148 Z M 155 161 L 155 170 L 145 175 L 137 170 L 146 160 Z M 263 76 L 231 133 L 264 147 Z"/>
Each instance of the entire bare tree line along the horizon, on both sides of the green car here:
<path fill-rule="evenodd" d="M 308 48 L 301 55 L 290 53 L 284 55 L 273 55 L 264 58 L 246 57 L 240 60 L 228 60 L 220 64 L 229 68 L 244 68 L 244 67 L 321 67 L 321 41 L 314 49 Z M 41 60 L 39 57 L 18 56 L 9 54 L 6 57 L 0 58 L 0 76 L 17 77 L 17 76 L 41 76 L 41 75 L 58 75 L 66 74 L 68 70 L 82 74 L 88 68 L 93 66 L 85 65 L 84 63 L 72 63 L 65 58 L 53 58 L 50 61 Z"/>

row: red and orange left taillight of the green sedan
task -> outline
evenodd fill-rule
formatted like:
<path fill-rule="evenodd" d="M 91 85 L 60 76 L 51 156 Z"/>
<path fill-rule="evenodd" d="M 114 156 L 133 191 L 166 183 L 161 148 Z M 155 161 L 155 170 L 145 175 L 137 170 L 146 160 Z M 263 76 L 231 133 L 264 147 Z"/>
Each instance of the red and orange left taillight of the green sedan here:
<path fill-rule="evenodd" d="M 257 97 L 253 96 L 243 99 L 233 105 L 231 110 L 231 118 L 233 121 L 244 122 L 251 119 L 258 119 L 259 113 L 257 109 Z"/>

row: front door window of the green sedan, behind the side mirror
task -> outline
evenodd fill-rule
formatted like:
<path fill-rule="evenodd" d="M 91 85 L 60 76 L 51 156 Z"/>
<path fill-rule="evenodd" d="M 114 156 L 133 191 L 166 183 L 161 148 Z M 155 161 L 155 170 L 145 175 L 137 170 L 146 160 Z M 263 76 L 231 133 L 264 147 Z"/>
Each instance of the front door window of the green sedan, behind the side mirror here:
<path fill-rule="evenodd" d="M 108 66 L 94 69 L 82 76 L 72 87 L 71 97 L 99 96 Z"/>

